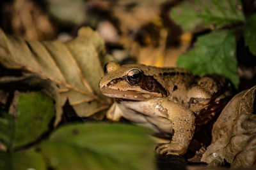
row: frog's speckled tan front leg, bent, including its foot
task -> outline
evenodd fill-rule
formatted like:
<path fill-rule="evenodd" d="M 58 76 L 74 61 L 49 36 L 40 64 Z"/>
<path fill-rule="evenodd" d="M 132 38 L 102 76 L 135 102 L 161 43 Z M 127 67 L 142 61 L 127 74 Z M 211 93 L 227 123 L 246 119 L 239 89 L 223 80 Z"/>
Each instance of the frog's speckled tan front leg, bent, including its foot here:
<path fill-rule="evenodd" d="M 178 103 L 164 101 L 156 106 L 157 111 L 166 115 L 172 121 L 173 136 L 170 143 L 159 144 L 156 152 L 163 154 L 183 155 L 188 150 L 189 143 L 195 132 L 194 113 Z"/>

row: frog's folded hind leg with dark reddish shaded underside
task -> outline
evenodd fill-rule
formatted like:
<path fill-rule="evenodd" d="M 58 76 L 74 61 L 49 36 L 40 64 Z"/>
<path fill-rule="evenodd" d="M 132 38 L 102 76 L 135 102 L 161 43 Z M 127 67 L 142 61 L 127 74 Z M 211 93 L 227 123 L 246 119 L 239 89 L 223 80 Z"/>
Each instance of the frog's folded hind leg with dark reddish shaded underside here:
<path fill-rule="evenodd" d="M 194 95 L 195 89 L 198 90 L 196 94 L 204 94 L 204 98 L 208 98 L 209 101 L 196 101 L 191 96 L 191 105 L 196 105 L 197 103 L 202 104 L 204 108 L 200 108 L 200 110 L 193 110 L 196 113 L 196 125 L 204 125 L 207 124 L 212 118 L 216 117 L 218 113 L 225 107 L 228 101 L 231 99 L 234 87 L 229 80 L 225 77 L 220 76 L 218 74 L 207 74 L 204 77 L 200 78 L 198 81 L 198 85 L 191 89 L 190 95 Z M 207 96 L 207 94 L 210 96 Z M 195 101 L 195 102 L 193 102 Z M 204 103 L 205 102 L 205 103 Z M 196 105 L 197 106 L 197 105 Z M 196 108 L 193 106 L 193 108 Z"/>

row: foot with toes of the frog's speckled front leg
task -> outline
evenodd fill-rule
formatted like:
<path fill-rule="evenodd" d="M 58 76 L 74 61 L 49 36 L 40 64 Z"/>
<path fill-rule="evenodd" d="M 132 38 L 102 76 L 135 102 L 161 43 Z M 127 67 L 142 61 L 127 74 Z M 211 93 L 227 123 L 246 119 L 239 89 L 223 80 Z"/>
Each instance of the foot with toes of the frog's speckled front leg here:
<path fill-rule="evenodd" d="M 164 143 L 156 146 L 156 153 L 159 155 L 183 155 L 187 149 L 181 143 Z"/>

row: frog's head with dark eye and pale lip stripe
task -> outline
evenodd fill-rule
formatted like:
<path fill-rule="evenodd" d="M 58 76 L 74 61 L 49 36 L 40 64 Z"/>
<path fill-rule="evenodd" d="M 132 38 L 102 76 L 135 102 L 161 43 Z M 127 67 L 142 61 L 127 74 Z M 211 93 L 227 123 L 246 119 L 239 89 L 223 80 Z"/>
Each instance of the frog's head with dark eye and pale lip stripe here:
<path fill-rule="evenodd" d="M 105 96 L 142 101 L 152 97 L 167 96 L 168 92 L 150 73 L 148 66 L 111 61 L 106 64 L 105 75 L 99 88 Z"/>

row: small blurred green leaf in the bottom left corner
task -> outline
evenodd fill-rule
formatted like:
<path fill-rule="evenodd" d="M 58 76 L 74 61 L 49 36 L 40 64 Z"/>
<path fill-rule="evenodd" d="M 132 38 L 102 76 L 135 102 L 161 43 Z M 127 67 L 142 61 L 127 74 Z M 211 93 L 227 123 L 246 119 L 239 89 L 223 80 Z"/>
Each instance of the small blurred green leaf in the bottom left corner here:
<path fill-rule="evenodd" d="M 23 150 L 15 153 L 0 152 L 0 169 L 46 170 L 46 166 L 41 155 L 32 150 Z"/>

